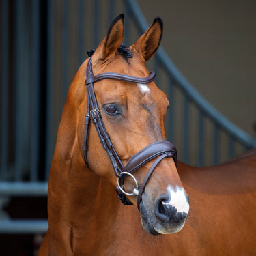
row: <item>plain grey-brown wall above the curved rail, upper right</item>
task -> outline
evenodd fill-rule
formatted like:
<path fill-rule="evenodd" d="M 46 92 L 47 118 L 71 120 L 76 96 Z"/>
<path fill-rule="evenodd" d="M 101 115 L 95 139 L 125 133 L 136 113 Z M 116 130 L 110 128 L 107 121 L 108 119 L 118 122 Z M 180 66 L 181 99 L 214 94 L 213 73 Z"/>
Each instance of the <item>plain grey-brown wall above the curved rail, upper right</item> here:
<path fill-rule="evenodd" d="M 218 111 L 248 134 L 256 122 L 256 1 L 138 0 L 164 21 L 162 46 Z"/>

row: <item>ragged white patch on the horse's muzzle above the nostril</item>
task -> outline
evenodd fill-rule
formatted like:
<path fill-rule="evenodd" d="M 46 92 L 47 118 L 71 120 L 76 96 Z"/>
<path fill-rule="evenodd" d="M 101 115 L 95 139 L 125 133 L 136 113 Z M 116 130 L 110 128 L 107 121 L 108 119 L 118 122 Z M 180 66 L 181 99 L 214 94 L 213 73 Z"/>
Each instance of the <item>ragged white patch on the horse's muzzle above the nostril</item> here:
<path fill-rule="evenodd" d="M 168 202 L 162 201 L 162 204 L 169 204 L 177 209 L 177 212 L 185 212 L 188 214 L 189 204 L 186 199 L 186 194 L 183 188 L 177 187 L 175 190 L 171 186 L 167 187 L 170 200 Z"/>

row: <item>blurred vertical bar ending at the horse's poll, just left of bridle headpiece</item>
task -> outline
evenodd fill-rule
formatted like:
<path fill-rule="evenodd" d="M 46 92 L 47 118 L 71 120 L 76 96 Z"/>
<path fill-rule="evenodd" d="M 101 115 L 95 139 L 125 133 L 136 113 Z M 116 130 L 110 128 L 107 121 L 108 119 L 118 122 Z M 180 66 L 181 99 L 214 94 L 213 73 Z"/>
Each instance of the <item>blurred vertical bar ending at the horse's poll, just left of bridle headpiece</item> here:
<path fill-rule="evenodd" d="M 78 47 L 78 54 L 79 54 L 79 63 L 78 65 L 81 66 L 81 64 L 83 63 L 83 60 L 85 59 L 85 56 L 83 55 L 83 48 L 84 48 L 84 40 L 83 40 L 83 36 L 85 33 L 85 27 L 83 26 L 84 24 L 84 9 L 85 9 L 85 5 L 84 5 L 84 1 L 83 0 L 79 0 L 79 47 Z M 79 66 L 77 68 L 79 68 Z"/>

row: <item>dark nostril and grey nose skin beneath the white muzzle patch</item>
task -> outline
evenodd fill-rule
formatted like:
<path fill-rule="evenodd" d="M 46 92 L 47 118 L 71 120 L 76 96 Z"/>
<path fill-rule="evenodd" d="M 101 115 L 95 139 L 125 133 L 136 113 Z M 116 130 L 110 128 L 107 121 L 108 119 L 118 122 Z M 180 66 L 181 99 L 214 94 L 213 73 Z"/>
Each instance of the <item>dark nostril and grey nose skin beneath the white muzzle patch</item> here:
<path fill-rule="evenodd" d="M 177 212 L 177 209 L 168 202 L 167 195 L 162 195 L 156 199 L 154 203 L 154 214 L 156 217 L 163 222 L 181 223 L 185 221 L 188 214 L 186 212 Z"/>

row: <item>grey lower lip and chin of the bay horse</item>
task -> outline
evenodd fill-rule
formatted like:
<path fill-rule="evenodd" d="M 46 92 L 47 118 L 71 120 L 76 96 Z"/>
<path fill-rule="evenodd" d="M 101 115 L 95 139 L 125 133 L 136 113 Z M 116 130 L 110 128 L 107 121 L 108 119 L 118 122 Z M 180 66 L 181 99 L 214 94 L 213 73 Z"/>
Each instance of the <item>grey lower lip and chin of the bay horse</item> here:
<path fill-rule="evenodd" d="M 143 204 L 143 201 L 140 203 L 140 212 L 141 212 L 141 225 L 143 229 L 150 233 L 153 236 L 158 235 L 167 235 L 171 233 L 179 232 L 185 225 L 185 221 L 182 223 L 174 222 L 162 222 L 154 216 L 154 211 Z"/>

